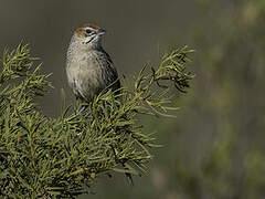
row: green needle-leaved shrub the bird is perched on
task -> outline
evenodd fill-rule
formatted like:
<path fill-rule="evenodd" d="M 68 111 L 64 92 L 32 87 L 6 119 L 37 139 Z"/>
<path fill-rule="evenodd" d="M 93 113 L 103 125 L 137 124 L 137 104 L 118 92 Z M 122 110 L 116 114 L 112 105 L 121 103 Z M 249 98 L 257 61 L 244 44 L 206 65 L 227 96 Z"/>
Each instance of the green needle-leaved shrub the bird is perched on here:
<path fill-rule="evenodd" d="M 4 51 L 0 70 L 0 197 L 55 198 L 84 193 L 104 174 L 139 175 L 152 158 L 155 137 L 142 130 L 139 114 L 169 115 L 172 88 L 186 92 L 187 46 L 145 66 L 134 87 L 104 91 L 81 115 L 63 102 L 49 118 L 34 103 L 49 87 L 29 45 Z M 158 87 L 158 88 L 155 88 Z"/>

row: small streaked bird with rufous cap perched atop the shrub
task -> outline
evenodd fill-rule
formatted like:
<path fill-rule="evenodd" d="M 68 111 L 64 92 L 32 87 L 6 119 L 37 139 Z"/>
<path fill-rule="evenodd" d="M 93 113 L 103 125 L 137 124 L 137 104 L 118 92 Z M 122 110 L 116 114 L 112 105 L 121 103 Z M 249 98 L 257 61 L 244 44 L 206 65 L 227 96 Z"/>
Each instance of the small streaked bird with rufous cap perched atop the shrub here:
<path fill-rule="evenodd" d="M 75 97 L 89 103 L 104 90 L 118 91 L 120 81 L 110 55 L 103 49 L 106 30 L 93 23 L 75 29 L 66 54 L 66 75 Z"/>

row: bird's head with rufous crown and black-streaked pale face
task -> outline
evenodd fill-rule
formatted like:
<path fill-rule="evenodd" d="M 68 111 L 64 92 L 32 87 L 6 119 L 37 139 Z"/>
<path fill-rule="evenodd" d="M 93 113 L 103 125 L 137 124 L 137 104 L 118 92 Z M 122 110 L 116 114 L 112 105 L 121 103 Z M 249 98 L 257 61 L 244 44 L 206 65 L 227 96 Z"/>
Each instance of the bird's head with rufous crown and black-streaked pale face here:
<path fill-rule="evenodd" d="M 74 32 L 74 40 L 82 49 L 97 49 L 102 45 L 102 36 L 105 30 L 95 24 L 83 24 Z"/>

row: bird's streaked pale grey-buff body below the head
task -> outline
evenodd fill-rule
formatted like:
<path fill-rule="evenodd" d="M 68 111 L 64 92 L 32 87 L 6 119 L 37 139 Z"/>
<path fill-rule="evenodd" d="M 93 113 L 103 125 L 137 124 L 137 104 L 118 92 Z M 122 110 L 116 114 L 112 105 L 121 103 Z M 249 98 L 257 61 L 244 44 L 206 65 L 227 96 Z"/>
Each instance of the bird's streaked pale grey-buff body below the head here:
<path fill-rule="evenodd" d="M 67 61 L 66 74 L 75 96 L 89 102 L 107 86 L 116 91 L 120 84 L 109 55 L 104 51 L 92 51 Z"/>

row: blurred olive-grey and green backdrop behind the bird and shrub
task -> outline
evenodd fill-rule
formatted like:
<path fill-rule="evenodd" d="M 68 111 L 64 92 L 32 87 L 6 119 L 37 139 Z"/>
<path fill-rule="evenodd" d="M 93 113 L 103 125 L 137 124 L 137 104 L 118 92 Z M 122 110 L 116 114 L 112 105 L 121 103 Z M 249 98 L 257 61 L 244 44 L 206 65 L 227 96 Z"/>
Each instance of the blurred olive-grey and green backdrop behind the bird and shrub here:
<path fill-rule="evenodd" d="M 61 88 L 73 95 L 65 54 L 84 22 L 107 29 L 104 40 L 119 74 L 130 76 L 161 52 L 189 44 L 197 77 L 176 103 L 177 118 L 144 119 L 162 148 L 150 169 L 135 177 L 98 178 L 81 198 L 265 198 L 264 0 L 12 0 L 0 1 L 0 53 L 29 42 L 52 90 L 39 100 L 47 116 L 61 108 Z"/>

